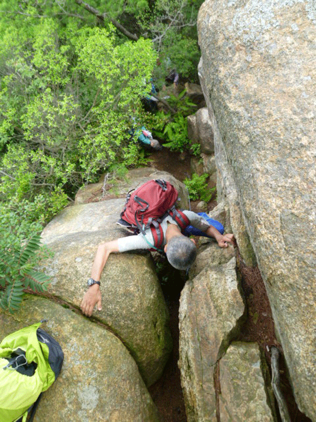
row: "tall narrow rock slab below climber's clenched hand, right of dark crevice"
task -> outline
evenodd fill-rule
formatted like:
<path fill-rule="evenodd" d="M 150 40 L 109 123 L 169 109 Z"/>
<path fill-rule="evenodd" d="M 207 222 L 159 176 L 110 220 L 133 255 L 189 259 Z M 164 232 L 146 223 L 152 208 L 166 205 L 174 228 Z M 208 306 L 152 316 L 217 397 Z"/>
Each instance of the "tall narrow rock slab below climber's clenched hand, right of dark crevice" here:
<path fill-rule="evenodd" d="M 209 249 L 212 254 L 218 247 Z M 188 422 L 216 422 L 214 366 L 244 312 L 235 259 L 221 259 L 213 257 L 181 293 L 179 368 Z"/>

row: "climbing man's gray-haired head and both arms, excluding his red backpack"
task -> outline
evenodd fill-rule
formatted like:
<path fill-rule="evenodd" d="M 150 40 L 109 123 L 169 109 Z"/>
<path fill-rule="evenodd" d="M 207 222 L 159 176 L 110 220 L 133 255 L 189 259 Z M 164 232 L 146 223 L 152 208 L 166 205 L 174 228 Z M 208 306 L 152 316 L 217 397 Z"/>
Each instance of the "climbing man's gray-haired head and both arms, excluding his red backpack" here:
<path fill-rule="evenodd" d="M 181 212 L 181 215 L 184 215 L 184 218 L 187 218 L 187 221 L 189 222 L 187 235 L 194 234 L 192 233 L 192 230 L 194 231 L 194 228 L 196 228 L 201 230 L 203 235 L 214 238 L 220 248 L 227 248 L 228 243 L 233 244 L 233 234 L 220 233 L 218 229 L 202 216 L 187 210 Z M 122 219 L 117 223 L 125 226 L 125 222 Z M 220 223 L 218 224 L 220 225 Z M 171 215 L 167 215 L 163 218 L 160 227 L 163 232 L 162 249 L 166 253 L 169 263 L 179 270 L 188 269 L 196 258 L 194 241 L 181 233 L 181 225 L 178 224 Z M 97 305 L 98 310 L 101 310 L 100 278 L 110 254 L 139 249 L 151 249 L 153 244 L 155 244 L 154 233 L 150 228 L 145 230 L 144 234 L 139 233 L 134 236 L 121 237 L 116 240 L 100 243 L 94 258 L 91 278 L 88 280 L 89 288 L 81 302 L 83 313 L 91 316 L 95 305 Z"/>

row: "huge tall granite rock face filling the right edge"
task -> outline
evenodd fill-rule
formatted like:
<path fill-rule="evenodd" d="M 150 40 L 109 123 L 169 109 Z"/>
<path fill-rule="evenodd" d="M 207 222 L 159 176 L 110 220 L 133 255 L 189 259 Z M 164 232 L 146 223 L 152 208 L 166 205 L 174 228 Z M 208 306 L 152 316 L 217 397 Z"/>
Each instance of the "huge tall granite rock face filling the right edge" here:
<path fill-rule="evenodd" d="M 315 8 L 206 0 L 198 33 L 218 192 L 258 262 L 297 404 L 316 420 Z"/>

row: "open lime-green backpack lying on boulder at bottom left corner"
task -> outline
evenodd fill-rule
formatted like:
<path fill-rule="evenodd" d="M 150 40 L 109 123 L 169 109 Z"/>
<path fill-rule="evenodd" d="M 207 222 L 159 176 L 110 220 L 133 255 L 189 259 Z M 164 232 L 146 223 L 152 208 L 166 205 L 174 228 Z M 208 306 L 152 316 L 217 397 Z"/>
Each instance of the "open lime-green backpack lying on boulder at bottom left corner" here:
<path fill-rule="evenodd" d="M 39 328 L 22 328 L 0 343 L 0 422 L 33 419 L 42 392 L 60 373 L 64 355 L 59 343 Z"/>

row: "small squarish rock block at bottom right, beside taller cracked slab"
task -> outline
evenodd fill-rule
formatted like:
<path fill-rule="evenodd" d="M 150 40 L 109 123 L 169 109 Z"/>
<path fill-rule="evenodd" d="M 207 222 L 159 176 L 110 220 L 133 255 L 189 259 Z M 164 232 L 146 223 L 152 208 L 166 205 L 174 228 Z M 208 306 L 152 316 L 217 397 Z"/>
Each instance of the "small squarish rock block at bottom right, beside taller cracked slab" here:
<path fill-rule="evenodd" d="M 258 345 L 231 343 L 219 367 L 221 422 L 273 422 L 260 369 Z"/>

